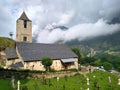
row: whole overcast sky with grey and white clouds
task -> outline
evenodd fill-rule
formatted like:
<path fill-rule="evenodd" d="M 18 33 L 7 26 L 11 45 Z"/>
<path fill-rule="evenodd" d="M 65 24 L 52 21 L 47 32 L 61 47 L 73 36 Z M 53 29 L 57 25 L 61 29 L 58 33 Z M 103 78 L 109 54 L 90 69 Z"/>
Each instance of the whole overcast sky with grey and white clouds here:
<path fill-rule="evenodd" d="M 0 36 L 16 35 L 16 20 L 25 11 L 39 43 L 85 40 L 120 30 L 120 0 L 0 0 Z M 54 29 L 66 26 L 69 29 Z"/>

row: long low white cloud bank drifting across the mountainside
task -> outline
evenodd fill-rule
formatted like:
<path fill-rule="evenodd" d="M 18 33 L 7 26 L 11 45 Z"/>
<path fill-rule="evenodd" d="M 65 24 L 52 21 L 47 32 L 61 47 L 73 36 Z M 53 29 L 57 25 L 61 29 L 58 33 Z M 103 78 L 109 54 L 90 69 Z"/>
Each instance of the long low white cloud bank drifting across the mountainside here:
<path fill-rule="evenodd" d="M 104 21 L 103 19 L 99 19 L 95 23 L 78 24 L 65 31 L 59 28 L 53 30 L 47 28 L 37 33 L 38 34 L 37 42 L 41 43 L 55 43 L 58 41 L 68 42 L 75 39 L 82 41 L 96 36 L 112 34 L 118 31 L 119 27 L 120 24 L 107 24 L 106 21 Z"/>

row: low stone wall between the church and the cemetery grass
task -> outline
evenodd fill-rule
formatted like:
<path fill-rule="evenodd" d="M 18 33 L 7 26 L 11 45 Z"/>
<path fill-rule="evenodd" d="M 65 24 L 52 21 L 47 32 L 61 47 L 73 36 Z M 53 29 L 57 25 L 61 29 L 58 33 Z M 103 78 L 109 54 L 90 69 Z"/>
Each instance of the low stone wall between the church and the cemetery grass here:
<path fill-rule="evenodd" d="M 16 71 L 16 70 L 0 70 L 0 78 L 11 78 L 14 76 L 16 79 L 39 79 L 39 78 L 56 78 L 65 76 L 74 76 L 77 71 L 60 71 L 60 72 L 31 72 L 31 71 Z"/>

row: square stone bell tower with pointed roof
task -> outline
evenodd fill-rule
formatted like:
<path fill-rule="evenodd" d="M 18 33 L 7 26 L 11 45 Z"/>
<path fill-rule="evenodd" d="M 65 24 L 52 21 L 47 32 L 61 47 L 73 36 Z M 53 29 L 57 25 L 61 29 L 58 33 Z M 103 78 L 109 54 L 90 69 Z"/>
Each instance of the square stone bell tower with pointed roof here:
<path fill-rule="evenodd" d="M 25 12 L 16 21 L 16 41 L 32 42 L 32 21 L 27 17 Z"/>

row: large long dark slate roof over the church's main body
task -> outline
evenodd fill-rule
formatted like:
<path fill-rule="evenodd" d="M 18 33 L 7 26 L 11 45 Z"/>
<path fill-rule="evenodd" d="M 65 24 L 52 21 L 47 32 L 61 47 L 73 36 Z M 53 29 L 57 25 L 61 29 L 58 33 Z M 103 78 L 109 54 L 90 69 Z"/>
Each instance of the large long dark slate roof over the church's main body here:
<path fill-rule="evenodd" d="M 44 57 L 66 59 L 77 57 L 69 47 L 62 44 L 40 44 L 17 42 L 18 52 L 24 61 L 38 61 Z"/>

